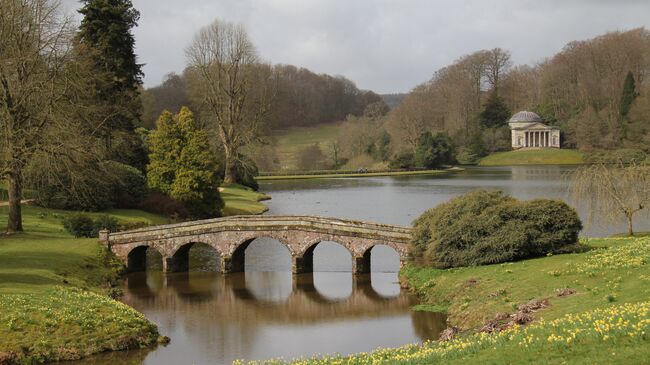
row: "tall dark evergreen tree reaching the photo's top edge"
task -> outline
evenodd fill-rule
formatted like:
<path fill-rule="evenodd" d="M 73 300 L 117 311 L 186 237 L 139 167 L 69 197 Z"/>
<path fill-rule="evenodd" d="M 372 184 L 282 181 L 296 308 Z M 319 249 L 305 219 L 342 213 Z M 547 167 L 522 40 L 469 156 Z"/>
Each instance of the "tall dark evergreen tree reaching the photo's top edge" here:
<path fill-rule="evenodd" d="M 89 110 L 97 133 L 106 141 L 107 158 L 144 168 L 146 153 L 134 132 L 142 114 L 135 38 L 140 13 L 130 0 L 83 0 L 75 43 L 82 67 L 94 75 L 88 90 Z"/>

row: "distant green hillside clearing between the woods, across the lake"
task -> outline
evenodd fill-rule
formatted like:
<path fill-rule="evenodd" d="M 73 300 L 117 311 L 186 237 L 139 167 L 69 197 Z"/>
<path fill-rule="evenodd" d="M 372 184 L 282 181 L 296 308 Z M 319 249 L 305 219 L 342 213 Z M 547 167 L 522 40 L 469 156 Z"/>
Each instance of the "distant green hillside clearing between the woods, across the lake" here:
<path fill-rule="evenodd" d="M 296 154 L 303 148 L 318 143 L 323 152 L 339 135 L 341 123 L 328 123 L 315 127 L 292 128 L 274 134 L 282 170 L 296 170 Z"/>

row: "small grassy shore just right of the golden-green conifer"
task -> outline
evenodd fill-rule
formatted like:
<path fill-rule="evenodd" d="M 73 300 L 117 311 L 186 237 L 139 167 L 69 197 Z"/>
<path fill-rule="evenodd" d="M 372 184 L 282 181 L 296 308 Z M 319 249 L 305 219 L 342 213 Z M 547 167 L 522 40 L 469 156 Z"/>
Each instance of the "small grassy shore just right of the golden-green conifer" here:
<path fill-rule="evenodd" d="M 261 201 L 269 200 L 271 197 L 248 187 L 224 184 L 219 191 L 226 204 L 223 208 L 224 216 L 262 214 L 269 210 Z"/>

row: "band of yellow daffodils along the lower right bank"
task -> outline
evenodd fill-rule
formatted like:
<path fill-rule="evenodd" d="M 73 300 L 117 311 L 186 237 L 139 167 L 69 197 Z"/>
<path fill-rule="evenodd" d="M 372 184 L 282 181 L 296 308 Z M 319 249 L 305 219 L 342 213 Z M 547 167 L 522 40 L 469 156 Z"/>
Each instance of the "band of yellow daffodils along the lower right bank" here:
<path fill-rule="evenodd" d="M 514 326 L 495 334 L 477 333 L 447 342 L 427 342 L 394 349 L 377 349 L 370 353 L 349 356 L 325 356 L 249 362 L 249 365 L 370 365 L 370 364 L 447 364 L 454 360 L 479 362 L 483 359 L 508 360 L 508 356 L 528 353 L 531 356 L 570 354 L 580 346 L 595 349 L 623 349 L 626 346 L 650 346 L 650 302 L 623 304 L 570 314 L 552 321 Z M 637 359 L 647 361 L 647 353 L 634 352 Z M 615 356 L 616 353 L 610 353 Z M 487 356 L 487 357 L 486 357 Z M 645 356 L 645 357 L 644 357 Z M 494 358 L 492 358 L 494 360 Z M 543 359 L 540 357 L 539 360 Z M 533 357 L 534 360 L 534 357 Z M 606 359 L 601 359 L 608 362 Z M 630 360 L 627 358 L 627 360 Z M 625 360 L 624 360 L 625 361 Z M 632 361 L 632 360 L 630 360 Z M 506 362 L 515 363 L 513 358 Z M 562 361 L 558 361 L 562 362 Z M 235 364 L 243 365 L 237 361 Z"/>

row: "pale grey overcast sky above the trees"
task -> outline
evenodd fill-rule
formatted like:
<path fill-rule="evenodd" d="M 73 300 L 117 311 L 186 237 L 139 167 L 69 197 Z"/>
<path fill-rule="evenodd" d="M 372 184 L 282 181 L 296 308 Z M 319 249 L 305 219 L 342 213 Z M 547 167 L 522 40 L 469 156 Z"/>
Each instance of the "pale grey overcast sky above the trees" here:
<path fill-rule="evenodd" d="M 77 0 L 63 0 L 68 11 Z M 534 64 L 572 40 L 650 28 L 650 0 L 133 0 L 145 86 L 185 67 L 194 33 L 243 23 L 260 56 L 343 75 L 362 89 L 407 92 L 464 54 L 501 47 Z"/>

